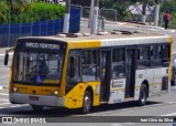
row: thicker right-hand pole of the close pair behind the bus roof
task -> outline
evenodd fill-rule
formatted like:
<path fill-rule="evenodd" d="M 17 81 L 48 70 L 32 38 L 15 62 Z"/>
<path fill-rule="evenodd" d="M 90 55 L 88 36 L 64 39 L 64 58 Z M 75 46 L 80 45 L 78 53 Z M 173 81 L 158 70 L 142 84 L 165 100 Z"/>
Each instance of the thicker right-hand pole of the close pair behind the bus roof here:
<path fill-rule="evenodd" d="M 99 0 L 95 0 L 95 4 L 94 4 L 94 13 L 92 13 L 92 20 L 91 20 L 91 29 L 90 29 L 90 33 L 91 34 L 97 34 L 97 30 L 98 30 L 98 10 L 99 10 Z"/>

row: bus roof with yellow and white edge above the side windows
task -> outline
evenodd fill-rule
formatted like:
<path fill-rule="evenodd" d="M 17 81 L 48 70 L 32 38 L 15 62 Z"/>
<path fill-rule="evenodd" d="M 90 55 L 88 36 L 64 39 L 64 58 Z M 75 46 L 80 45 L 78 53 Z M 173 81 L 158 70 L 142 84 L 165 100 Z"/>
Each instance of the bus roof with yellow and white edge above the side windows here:
<path fill-rule="evenodd" d="M 24 36 L 20 39 L 55 40 L 67 43 L 70 49 L 172 43 L 172 36 L 156 33 L 106 34 L 89 36 Z"/>

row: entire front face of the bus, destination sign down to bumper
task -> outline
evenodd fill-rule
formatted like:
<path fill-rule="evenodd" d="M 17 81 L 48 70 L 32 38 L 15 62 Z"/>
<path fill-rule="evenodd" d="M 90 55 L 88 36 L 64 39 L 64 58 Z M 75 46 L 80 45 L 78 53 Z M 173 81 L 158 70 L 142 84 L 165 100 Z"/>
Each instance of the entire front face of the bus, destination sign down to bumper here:
<path fill-rule="evenodd" d="M 66 43 L 53 40 L 18 40 L 12 64 L 10 102 L 62 106 L 58 95 Z M 59 101 L 61 102 L 61 101 Z"/>

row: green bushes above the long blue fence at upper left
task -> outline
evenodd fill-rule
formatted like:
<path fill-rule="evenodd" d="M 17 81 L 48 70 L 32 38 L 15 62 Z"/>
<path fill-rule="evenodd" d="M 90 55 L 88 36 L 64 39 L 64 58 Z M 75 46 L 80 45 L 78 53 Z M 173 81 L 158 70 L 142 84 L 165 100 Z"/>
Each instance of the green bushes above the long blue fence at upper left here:
<path fill-rule="evenodd" d="M 65 7 L 63 6 L 42 2 L 29 3 L 25 8 L 16 8 L 15 6 L 13 9 L 11 6 L 0 3 L 0 23 L 29 23 L 56 20 L 64 17 L 64 11 Z"/>

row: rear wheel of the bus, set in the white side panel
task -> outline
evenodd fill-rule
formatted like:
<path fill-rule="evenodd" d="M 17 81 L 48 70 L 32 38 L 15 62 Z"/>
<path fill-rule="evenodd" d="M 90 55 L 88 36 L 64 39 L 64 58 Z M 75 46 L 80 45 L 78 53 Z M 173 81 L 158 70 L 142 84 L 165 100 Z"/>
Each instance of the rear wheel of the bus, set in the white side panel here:
<path fill-rule="evenodd" d="M 140 91 L 139 105 L 144 106 L 146 104 L 146 99 L 147 99 L 147 87 L 145 84 L 142 84 L 141 91 Z"/>

